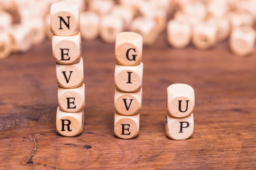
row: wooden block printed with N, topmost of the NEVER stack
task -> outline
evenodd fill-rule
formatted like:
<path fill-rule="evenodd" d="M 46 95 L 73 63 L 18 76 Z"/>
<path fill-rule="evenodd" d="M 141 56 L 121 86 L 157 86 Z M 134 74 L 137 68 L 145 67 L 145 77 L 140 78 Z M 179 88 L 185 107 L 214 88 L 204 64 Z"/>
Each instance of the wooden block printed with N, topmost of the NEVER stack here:
<path fill-rule="evenodd" d="M 54 35 L 68 36 L 79 32 L 79 5 L 56 2 L 51 5 L 51 30 Z"/>

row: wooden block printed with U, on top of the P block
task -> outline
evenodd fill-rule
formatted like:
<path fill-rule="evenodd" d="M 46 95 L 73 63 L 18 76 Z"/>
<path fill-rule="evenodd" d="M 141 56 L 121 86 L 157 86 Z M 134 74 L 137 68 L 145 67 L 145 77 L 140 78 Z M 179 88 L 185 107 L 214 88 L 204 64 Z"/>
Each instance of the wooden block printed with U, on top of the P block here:
<path fill-rule="evenodd" d="M 187 117 L 195 106 L 194 89 L 187 84 L 172 84 L 167 88 L 166 109 L 172 117 Z"/>

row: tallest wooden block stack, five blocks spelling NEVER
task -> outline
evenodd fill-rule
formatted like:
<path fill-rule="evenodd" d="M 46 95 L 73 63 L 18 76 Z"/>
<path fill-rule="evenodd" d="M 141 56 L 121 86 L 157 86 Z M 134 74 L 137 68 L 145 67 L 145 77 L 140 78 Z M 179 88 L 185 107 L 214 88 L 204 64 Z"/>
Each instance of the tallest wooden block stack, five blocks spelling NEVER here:
<path fill-rule="evenodd" d="M 56 131 L 76 136 L 83 131 L 85 85 L 79 33 L 79 6 L 57 2 L 51 6 L 52 53 L 56 61 L 58 108 Z"/>

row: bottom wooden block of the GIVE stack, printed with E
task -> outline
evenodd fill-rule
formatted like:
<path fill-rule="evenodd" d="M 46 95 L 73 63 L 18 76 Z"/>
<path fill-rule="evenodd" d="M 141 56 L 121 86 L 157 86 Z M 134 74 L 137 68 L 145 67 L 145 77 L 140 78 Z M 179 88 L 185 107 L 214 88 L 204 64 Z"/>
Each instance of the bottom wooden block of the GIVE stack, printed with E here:
<path fill-rule="evenodd" d="M 139 114 L 119 115 L 115 112 L 114 135 L 121 139 L 132 139 L 139 135 Z"/>

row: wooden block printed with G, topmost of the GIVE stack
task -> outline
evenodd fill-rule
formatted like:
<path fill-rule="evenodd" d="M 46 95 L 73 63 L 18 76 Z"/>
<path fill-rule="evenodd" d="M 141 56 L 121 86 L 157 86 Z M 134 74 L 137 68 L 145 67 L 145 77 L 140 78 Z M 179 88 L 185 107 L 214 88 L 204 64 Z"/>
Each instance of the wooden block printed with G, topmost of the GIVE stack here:
<path fill-rule="evenodd" d="M 133 32 L 122 32 L 116 36 L 115 59 L 117 64 L 135 66 L 142 60 L 142 36 Z"/>

